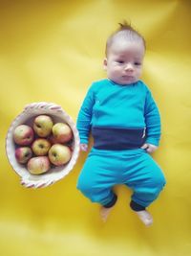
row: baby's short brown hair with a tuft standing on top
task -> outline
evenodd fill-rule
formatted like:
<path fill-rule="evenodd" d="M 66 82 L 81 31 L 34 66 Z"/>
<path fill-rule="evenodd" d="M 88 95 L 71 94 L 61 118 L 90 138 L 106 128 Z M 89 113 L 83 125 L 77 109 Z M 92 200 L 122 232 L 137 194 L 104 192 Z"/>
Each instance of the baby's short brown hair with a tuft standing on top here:
<path fill-rule="evenodd" d="M 142 35 L 138 33 L 136 29 L 133 28 L 131 23 L 123 21 L 123 23 L 118 23 L 119 28 L 115 33 L 109 36 L 106 43 L 105 54 L 107 56 L 109 48 L 112 46 L 116 39 L 127 39 L 129 41 L 141 41 L 143 43 L 144 49 L 146 49 L 146 42 Z"/>

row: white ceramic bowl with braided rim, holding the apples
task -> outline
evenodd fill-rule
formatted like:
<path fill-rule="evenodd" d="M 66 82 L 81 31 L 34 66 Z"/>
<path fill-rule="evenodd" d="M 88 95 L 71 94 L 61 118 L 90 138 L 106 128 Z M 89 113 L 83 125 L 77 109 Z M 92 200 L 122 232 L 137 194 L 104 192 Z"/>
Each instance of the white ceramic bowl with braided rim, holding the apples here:
<path fill-rule="evenodd" d="M 27 124 L 32 125 L 32 121 L 35 116 L 40 114 L 47 114 L 53 118 L 53 122 L 65 122 L 73 130 L 74 139 L 73 139 L 73 154 L 71 160 L 64 166 L 53 167 L 49 172 L 43 175 L 32 175 L 27 170 L 25 165 L 19 164 L 16 161 L 14 152 L 15 152 L 15 143 L 13 141 L 13 130 L 19 125 Z M 72 118 L 62 109 L 61 106 L 55 105 L 53 103 L 32 103 L 27 105 L 23 112 L 21 112 L 11 123 L 11 127 L 8 130 L 6 138 L 6 152 L 8 159 L 11 163 L 11 167 L 16 172 L 17 175 L 21 177 L 21 184 L 28 188 L 39 188 L 46 187 L 64 176 L 68 175 L 74 168 L 74 164 L 77 160 L 79 154 L 79 136 L 78 131 L 75 128 Z"/>

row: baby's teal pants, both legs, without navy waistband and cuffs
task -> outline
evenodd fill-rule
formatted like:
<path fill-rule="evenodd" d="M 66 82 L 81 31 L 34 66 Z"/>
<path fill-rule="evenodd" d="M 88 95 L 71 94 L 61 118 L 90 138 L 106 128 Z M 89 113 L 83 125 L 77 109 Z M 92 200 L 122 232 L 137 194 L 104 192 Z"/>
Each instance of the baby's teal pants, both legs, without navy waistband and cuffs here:
<path fill-rule="evenodd" d="M 149 206 L 165 185 L 159 165 L 142 149 L 103 151 L 92 149 L 78 177 L 77 188 L 91 201 L 108 205 L 114 200 L 113 187 L 125 184 L 132 200 Z"/>

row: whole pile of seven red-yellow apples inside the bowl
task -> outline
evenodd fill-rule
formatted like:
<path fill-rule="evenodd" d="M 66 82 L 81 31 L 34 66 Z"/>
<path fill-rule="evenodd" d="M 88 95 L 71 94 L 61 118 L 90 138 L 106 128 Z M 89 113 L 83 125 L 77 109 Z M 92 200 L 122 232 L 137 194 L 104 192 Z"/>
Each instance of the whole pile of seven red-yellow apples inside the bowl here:
<path fill-rule="evenodd" d="M 13 130 L 15 158 L 32 175 L 47 173 L 67 164 L 72 157 L 74 134 L 66 123 L 54 123 L 49 115 L 38 115 L 32 126 L 23 124 Z"/>

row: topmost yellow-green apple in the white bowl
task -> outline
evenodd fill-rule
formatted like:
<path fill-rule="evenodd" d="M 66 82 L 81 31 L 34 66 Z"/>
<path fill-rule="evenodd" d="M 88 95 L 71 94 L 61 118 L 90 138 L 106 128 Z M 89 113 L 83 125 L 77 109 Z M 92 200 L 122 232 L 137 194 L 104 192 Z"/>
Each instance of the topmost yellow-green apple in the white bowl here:
<path fill-rule="evenodd" d="M 48 115 L 39 115 L 34 118 L 33 129 L 39 137 L 47 137 L 51 134 L 53 119 Z"/>

